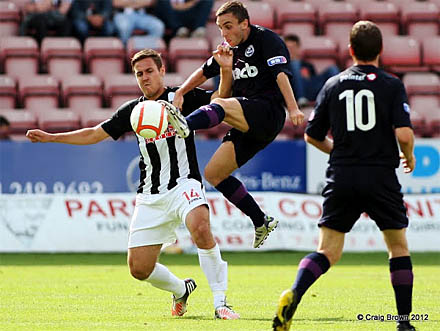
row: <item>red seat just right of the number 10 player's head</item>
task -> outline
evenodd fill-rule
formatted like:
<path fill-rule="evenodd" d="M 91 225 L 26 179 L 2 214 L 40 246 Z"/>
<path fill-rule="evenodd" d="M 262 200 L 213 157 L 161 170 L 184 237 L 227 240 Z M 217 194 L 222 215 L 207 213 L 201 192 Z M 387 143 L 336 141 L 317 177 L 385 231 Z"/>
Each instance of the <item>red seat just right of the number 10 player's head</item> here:
<path fill-rule="evenodd" d="M 392 72 L 426 71 L 421 67 L 420 44 L 409 36 L 385 36 L 381 59 Z"/>

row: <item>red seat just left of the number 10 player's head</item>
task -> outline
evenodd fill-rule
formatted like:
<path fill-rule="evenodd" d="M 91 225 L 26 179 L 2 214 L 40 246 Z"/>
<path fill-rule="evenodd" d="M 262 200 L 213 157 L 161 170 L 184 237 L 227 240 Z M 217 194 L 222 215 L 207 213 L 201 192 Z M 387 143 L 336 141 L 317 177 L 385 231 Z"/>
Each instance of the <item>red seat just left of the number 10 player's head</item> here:
<path fill-rule="evenodd" d="M 330 38 L 316 36 L 301 40 L 302 56 L 315 65 L 317 72 L 330 65 L 336 65 L 338 46 Z"/>

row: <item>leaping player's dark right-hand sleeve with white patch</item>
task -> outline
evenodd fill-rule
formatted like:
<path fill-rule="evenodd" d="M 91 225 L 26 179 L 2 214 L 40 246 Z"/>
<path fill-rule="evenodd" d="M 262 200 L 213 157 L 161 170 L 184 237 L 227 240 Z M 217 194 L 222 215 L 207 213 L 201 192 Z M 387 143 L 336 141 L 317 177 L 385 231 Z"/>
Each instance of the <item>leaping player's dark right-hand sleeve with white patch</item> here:
<path fill-rule="evenodd" d="M 263 34 L 263 57 L 275 78 L 280 72 L 292 77 L 287 46 L 280 36 L 269 30 Z"/>

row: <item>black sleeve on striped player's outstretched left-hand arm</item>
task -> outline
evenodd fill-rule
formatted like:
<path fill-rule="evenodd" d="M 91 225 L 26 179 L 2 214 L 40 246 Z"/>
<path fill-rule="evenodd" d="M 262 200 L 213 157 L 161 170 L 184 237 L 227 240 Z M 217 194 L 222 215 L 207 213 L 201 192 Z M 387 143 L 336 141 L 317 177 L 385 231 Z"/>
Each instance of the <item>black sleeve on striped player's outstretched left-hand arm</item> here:
<path fill-rule="evenodd" d="M 130 124 L 130 115 L 137 103 L 137 99 L 124 103 L 111 118 L 101 124 L 104 131 L 114 140 L 118 140 L 125 133 L 133 131 Z"/>

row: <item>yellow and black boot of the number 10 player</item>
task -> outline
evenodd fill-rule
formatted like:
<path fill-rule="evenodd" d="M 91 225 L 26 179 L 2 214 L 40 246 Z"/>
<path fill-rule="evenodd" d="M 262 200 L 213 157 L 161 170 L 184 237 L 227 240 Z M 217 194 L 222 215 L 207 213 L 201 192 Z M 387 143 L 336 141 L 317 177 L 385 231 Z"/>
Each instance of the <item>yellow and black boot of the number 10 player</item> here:
<path fill-rule="evenodd" d="M 281 293 L 278 308 L 273 318 L 274 331 L 287 331 L 292 324 L 292 317 L 298 306 L 298 295 L 295 290 L 287 289 Z"/>

